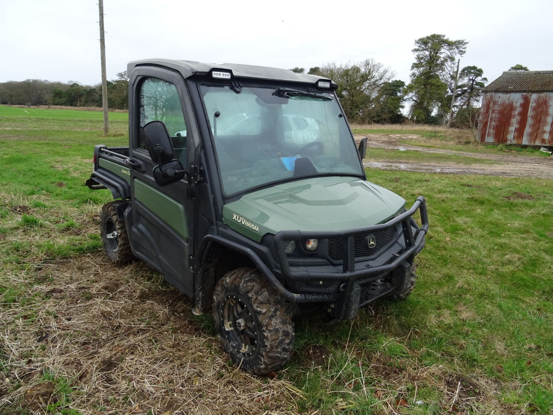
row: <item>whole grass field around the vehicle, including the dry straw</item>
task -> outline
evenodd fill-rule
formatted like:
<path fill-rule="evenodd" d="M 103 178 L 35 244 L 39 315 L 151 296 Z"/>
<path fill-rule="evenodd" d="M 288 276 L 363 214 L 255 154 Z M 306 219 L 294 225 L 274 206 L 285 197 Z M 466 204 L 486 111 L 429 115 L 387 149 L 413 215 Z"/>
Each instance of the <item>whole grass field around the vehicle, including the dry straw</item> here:
<path fill-rule="evenodd" d="M 158 274 L 104 259 L 110 195 L 84 181 L 127 118 L 102 137 L 101 116 L 0 106 L 0 414 L 551 413 L 551 180 L 368 169 L 427 199 L 413 294 L 296 321 L 289 364 L 255 378 Z"/>

